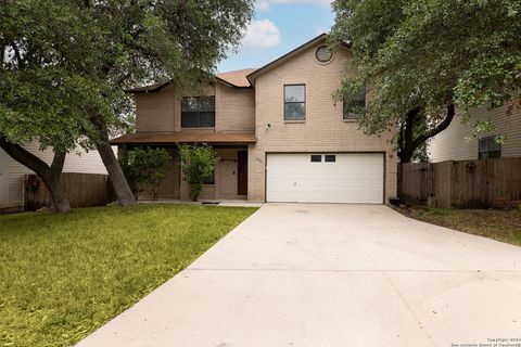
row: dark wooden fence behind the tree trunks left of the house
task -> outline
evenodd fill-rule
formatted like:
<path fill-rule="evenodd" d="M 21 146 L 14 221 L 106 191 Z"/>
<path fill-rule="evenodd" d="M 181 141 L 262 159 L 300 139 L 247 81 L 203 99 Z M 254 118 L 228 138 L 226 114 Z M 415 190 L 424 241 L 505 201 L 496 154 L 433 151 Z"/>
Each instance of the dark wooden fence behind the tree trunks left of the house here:
<path fill-rule="evenodd" d="M 104 206 L 114 201 L 114 191 L 107 175 L 62 174 L 62 182 L 72 208 Z M 25 209 L 51 207 L 51 195 L 37 175 L 25 178 Z"/>

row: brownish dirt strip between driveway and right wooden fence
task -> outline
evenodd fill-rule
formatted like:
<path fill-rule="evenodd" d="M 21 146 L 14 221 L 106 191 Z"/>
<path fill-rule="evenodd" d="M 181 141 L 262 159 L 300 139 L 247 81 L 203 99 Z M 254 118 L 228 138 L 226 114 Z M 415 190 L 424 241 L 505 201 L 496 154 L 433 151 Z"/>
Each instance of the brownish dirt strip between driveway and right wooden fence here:
<path fill-rule="evenodd" d="M 521 246 L 521 209 L 397 208 L 410 218 Z"/>

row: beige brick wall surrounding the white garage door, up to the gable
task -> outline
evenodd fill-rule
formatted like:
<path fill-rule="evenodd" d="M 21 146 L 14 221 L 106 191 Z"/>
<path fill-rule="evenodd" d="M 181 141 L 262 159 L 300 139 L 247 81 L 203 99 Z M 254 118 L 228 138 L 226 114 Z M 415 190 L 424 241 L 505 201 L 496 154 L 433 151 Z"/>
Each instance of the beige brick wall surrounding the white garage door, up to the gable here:
<path fill-rule="evenodd" d="M 256 80 L 258 142 L 249 150 L 249 200 L 265 200 L 265 160 L 270 152 L 385 152 L 385 196 L 395 196 L 396 156 L 389 142 L 391 134 L 365 136 L 356 123 L 343 120 L 342 104 L 334 105 L 331 98 L 350 53 L 342 49 L 330 64 L 320 65 L 314 52 L 312 48 Z M 283 87 L 294 83 L 306 85 L 305 123 L 283 120 Z"/>

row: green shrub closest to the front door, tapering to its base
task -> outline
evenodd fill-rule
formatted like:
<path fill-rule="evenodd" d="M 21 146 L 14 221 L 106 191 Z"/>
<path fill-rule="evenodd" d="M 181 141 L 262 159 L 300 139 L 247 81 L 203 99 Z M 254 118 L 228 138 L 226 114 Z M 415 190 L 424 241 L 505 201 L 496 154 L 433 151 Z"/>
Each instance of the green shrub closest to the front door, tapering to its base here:
<path fill-rule="evenodd" d="M 181 144 L 179 145 L 179 154 L 181 156 L 181 171 L 190 185 L 190 198 L 198 201 L 203 190 L 204 179 L 214 171 L 218 157 L 206 143 Z"/>

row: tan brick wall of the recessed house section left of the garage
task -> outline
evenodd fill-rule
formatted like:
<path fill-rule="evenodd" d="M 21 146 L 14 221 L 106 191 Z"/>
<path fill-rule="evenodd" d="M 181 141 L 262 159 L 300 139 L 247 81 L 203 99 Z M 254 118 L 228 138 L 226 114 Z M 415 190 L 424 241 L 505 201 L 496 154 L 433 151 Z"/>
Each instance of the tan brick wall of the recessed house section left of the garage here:
<path fill-rule="evenodd" d="M 215 128 L 183 129 L 181 128 L 180 94 L 168 87 L 160 92 L 136 94 L 137 132 L 242 132 L 255 130 L 255 99 L 253 89 L 228 87 L 223 83 L 209 86 L 200 95 L 215 95 Z M 245 147 L 243 149 L 243 151 Z M 203 188 L 201 198 L 220 200 L 239 198 L 237 194 L 237 152 L 238 149 L 217 149 L 220 160 L 215 168 L 215 184 Z M 189 200 L 189 188 L 179 171 L 176 151 L 173 156 L 173 167 L 158 189 L 158 198 Z M 230 175 L 225 175 L 228 172 Z M 151 198 L 150 192 L 144 192 L 142 198 Z"/>

